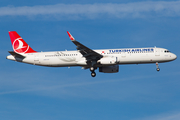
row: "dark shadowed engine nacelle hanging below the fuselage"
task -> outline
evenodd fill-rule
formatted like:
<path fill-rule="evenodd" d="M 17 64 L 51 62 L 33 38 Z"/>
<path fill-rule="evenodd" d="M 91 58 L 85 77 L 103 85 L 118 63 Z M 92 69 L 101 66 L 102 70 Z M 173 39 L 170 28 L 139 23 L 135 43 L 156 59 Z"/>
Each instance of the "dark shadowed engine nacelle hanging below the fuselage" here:
<path fill-rule="evenodd" d="M 117 72 L 119 72 L 119 65 L 99 67 L 99 72 L 103 72 L 103 73 L 117 73 Z"/>

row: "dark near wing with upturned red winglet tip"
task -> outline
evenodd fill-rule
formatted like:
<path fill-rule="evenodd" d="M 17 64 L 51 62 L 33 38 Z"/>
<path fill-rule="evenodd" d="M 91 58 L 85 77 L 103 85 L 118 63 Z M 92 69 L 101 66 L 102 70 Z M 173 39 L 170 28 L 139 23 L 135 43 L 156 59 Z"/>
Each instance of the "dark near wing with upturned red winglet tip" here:
<path fill-rule="evenodd" d="M 84 46 L 80 42 L 76 41 L 74 37 L 67 31 L 70 40 L 77 46 L 77 50 L 83 55 L 83 57 L 86 58 L 87 62 L 97 62 L 99 59 L 101 59 L 103 56 L 92 49 Z"/>

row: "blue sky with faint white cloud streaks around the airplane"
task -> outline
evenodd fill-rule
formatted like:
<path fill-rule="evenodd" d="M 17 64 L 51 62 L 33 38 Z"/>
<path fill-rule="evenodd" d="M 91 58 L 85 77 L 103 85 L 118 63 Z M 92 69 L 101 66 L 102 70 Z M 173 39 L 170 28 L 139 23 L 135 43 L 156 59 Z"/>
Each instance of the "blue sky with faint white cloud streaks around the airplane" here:
<path fill-rule="evenodd" d="M 180 56 L 180 1 L 1 0 L 0 118 L 3 120 L 176 120 L 180 61 L 121 65 L 119 73 L 48 68 L 6 60 L 8 31 L 36 51 L 162 47 Z"/>

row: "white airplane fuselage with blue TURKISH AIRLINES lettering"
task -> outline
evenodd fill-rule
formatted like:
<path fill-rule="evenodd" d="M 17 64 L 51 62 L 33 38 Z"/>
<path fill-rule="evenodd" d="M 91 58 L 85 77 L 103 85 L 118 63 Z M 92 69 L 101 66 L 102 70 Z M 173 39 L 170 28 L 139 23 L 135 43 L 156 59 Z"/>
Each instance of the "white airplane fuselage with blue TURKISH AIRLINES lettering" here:
<path fill-rule="evenodd" d="M 103 55 L 103 58 L 115 57 L 118 62 L 106 64 L 96 64 L 96 67 L 111 66 L 113 64 L 143 64 L 168 62 L 176 59 L 176 55 L 164 48 L 126 48 L 126 49 L 105 49 L 94 50 Z M 86 58 L 79 51 L 56 51 L 56 52 L 37 52 L 22 54 L 25 58 L 17 58 L 12 55 L 7 59 L 49 67 L 70 67 L 82 66 L 89 67 Z M 101 59 L 103 59 L 101 58 Z"/>

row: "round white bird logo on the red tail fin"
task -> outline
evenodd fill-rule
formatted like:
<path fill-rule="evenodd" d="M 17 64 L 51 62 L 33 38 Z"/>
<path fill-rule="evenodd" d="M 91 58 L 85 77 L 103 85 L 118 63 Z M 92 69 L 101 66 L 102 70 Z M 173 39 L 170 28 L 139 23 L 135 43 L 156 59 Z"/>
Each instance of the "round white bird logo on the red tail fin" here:
<path fill-rule="evenodd" d="M 23 43 L 22 38 L 17 38 L 13 42 L 13 49 L 17 53 L 26 53 L 29 49 L 29 45 L 27 43 Z"/>

